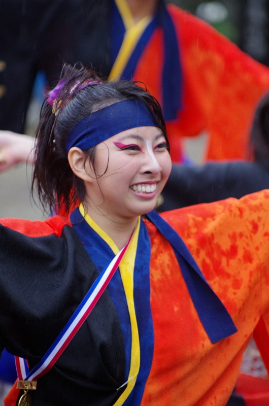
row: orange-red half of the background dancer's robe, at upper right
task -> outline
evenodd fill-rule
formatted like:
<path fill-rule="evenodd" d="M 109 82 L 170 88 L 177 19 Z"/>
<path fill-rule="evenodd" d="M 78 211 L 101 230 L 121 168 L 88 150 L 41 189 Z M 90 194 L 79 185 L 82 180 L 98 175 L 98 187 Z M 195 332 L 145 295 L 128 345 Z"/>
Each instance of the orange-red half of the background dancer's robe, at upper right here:
<path fill-rule="evenodd" d="M 167 122 L 172 159 L 178 161 L 180 137 L 204 130 L 209 136 L 205 159 L 245 159 L 256 105 L 269 89 L 268 67 L 187 11 L 172 4 L 167 9 L 178 36 L 183 80 L 182 110 Z M 162 44 L 162 31 L 155 30 L 134 77 L 161 103 Z"/>

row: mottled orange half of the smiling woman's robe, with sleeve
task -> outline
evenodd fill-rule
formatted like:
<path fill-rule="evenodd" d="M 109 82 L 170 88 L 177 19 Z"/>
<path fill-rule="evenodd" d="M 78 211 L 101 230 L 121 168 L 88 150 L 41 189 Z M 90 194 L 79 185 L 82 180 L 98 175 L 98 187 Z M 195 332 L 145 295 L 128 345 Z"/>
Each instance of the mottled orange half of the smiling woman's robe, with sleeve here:
<path fill-rule="evenodd" d="M 143 406 L 226 405 L 259 320 L 260 351 L 268 364 L 268 213 L 269 191 L 262 191 L 162 215 L 182 236 L 238 328 L 215 344 L 198 319 L 173 250 L 147 223 L 155 344 Z"/>

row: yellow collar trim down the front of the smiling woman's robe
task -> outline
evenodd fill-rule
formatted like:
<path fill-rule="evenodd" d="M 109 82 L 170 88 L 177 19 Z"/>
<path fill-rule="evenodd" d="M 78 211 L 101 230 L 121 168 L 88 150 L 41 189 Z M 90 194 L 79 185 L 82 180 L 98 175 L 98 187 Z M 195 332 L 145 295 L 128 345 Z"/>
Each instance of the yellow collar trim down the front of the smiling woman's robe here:
<path fill-rule="evenodd" d="M 85 212 L 82 204 L 80 204 L 79 210 L 81 215 L 84 217 L 85 221 L 94 229 L 94 231 L 98 233 L 98 235 L 100 235 L 100 237 L 104 241 L 106 241 L 106 243 L 110 246 L 110 248 L 116 255 L 119 252 L 119 249 L 117 248 L 113 240 L 110 238 L 110 236 L 90 218 L 90 216 Z M 125 402 L 129 394 L 131 393 L 133 387 L 135 386 L 140 368 L 139 332 L 135 311 L 135 303 L 133 300 L 133 270 L 135 268 L 139 229 L 140 229 L 140 217 L 138 219 L 138 224 L 135 232 L 133 233 L 130 245 L 127 248 L 127 251 L 125 252 L 124 257 L 122 258 L 119 266 L 131 323 L 131 361 L 126 389 L 119 397 L 119 399 L 116 401 L 116 403 L 114 403 L 114 406 L 121 406 Z"/>

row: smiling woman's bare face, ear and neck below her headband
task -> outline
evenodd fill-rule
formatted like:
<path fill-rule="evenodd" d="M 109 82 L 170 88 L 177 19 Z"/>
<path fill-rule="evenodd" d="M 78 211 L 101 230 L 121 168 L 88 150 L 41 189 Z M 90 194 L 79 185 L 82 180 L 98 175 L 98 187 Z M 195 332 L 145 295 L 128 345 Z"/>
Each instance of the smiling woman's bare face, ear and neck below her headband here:
<path fill-rule="evenodd" d="M 120 103 L 124 109 L 125 102 Z M 114 106 L 118 108 L 116 104 L 109 109 L 116 118 Z M 136 103 L 132 117 L 137 117 L 138 111 L 142 110 L 142 106 L 139 110 L 138 106 Z M 99 118 L 102 120 L 102 113 Z M 117 117 L 117 122 L 119 119 Z M 85 183 L 86 212 L 102 225 L 118 248 L 125 245 L 131 230 L 136 227 L 138 216 L 157 206 L 158 197 L 171 172 L 165 137 L 153 126 L 150 116 L 148 119 L 149 126 L 124 130 L 98 144 L 94 170 L 89 161 L 84 164 L 84 154 L 80 149 L 73 147 L 69 151 L 70 166 Z M 137 125 L 137 119 L 133 125 Z M 119 232 L 120 223 L 124 224 L 122 232 Z"/>

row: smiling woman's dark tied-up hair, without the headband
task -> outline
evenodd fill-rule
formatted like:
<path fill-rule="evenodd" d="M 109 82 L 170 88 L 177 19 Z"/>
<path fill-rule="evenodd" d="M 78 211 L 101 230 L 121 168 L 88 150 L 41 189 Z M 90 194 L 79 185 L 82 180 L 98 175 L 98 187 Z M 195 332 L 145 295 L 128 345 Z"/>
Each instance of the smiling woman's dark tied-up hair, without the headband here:
<path fill-rule="evenodd" d="M 83 88 L 87 80 L 91 80 L 92 85 Z M 32 194 L 34 190 L 37 191 L 46 212 L 51 213 L 57 208 L 65 215 L 77 201 L 84 200 L 86 193 L 84 182 L 75 176 L 69 165 L 65 149 L 69 133 L 81 119 L 118 101 L 139 99 L 163 132 L 168 148 L 169 142 L 160 105 L 142 83 L 102 80 L 78 63 L 74 66 L 63 65 L 59 84 L 62 85 L 53 106 L 48 103 L 48 98 L 41 108 L 31 191 Z M 81 87 L 81 90 L 72 94 L 74 86 L 78 89 Z M 95 147 L 84 151 L 85 160 L 89 159 L 93 165 L 94 150 Z"/>

